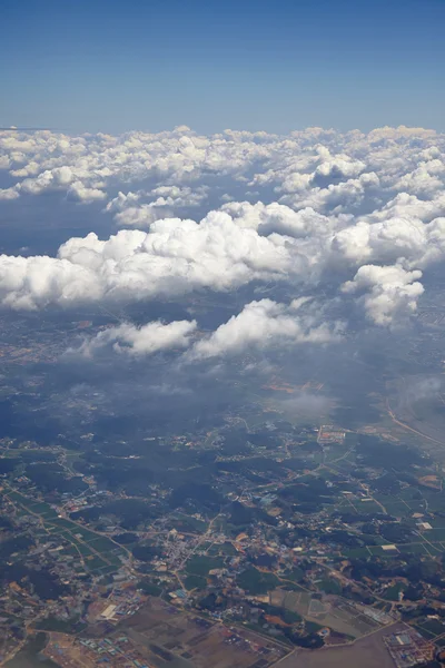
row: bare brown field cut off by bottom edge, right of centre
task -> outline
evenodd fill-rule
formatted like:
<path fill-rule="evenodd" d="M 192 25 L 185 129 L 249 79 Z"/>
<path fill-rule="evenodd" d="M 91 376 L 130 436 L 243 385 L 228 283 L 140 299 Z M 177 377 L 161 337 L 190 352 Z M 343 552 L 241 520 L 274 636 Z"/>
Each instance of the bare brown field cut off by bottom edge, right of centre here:
<path fill-rule="evenodd" d="M 396 622 L 356 640 L 354 645 L 326 647 L 316 651 L 297 649 L 280 661 L 279 668 L 394 668 L 383 637 L 405 628 L 405 625 Z"/>

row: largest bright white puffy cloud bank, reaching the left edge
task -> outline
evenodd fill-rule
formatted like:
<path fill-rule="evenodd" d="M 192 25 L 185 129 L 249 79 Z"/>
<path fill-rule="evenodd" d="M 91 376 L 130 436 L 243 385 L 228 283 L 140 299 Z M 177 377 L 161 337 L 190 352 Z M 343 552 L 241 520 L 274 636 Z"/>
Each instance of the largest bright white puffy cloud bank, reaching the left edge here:
<path fill-rule="evenodd" d="M 0 256 L 0 301 L 13 308 L 178 296 L 194 289 L 228 291 L 255 278 L 298 271 L 279 239 L 260 237 L 211 212 L 200 224 L 164 219 L 148 233 L 120 230 L 71 238 L 58 257 Z M 299 263 L 301 269 L 301 262 Z"/>

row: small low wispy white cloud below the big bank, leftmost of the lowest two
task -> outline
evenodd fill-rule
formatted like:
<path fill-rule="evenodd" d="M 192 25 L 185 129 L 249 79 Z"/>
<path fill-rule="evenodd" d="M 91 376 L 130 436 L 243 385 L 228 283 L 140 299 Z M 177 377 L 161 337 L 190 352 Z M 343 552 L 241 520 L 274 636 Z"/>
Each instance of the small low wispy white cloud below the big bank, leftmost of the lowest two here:
<path fill-rule="evenodd" d="M 152 355 L 159 351 L 187 347 L 196 327 L 196 321 L 174 321 L 168 324 L 157 321 L 140 327 L 122 323 L 99 332 L 93 338 L 87 338 L 76 352 L 90 357 L 98 351 L 112 347 L 117 353 L 134 356 Z"/>

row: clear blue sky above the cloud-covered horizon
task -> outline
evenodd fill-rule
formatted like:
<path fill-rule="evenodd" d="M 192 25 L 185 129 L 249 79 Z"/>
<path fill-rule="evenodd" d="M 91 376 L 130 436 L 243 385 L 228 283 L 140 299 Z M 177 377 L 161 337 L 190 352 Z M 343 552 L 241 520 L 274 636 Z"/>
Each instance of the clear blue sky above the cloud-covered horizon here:
<path fill-rule="evenodd" d="M 1 126 L 445 129 L 444 0 L 3 0 Z"/>

